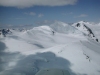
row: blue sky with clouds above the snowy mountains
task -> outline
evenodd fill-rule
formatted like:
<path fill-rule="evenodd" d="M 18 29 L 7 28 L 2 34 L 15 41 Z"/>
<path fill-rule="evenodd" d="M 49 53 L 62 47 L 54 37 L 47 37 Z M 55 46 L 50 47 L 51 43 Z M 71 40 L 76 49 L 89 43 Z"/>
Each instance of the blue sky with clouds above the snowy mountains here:
<path fill-rule="evenodd" d="M 0 0 L 0 25 L 100 22 L 100 0 Z"/>

